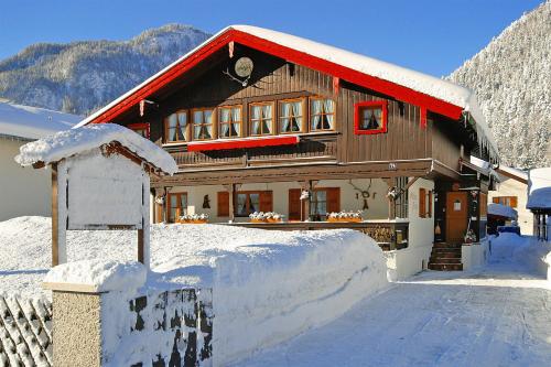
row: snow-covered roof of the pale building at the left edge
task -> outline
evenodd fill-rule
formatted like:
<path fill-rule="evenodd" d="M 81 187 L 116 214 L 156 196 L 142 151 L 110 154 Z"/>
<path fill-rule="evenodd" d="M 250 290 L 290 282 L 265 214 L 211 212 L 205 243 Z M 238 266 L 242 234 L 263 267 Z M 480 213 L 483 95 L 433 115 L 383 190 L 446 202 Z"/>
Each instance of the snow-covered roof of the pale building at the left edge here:
<path fill-rule="evenodd" d="M 0 136 L 34 140 L 71 129 L 82 119 L 76 115 L 0 101 Z"/>

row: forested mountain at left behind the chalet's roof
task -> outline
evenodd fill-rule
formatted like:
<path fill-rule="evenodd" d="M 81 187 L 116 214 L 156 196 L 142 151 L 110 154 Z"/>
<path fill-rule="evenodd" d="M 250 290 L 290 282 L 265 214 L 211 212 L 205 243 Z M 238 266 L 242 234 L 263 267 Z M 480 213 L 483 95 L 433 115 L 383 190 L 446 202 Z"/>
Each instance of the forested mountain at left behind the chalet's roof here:
<path fill-rule="evenodd" d="M 87 115 L 209 36 L 188 25 L 169 24 L 130 41 L 33 44 L 0 62 L 0 97 Z"/>

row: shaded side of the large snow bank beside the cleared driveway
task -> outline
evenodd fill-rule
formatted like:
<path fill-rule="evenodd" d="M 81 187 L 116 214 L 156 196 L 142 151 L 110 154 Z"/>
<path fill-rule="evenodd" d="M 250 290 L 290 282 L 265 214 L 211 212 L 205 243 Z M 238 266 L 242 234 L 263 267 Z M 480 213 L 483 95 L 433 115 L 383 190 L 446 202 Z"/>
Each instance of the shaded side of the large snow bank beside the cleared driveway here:
<path fill-rule="evenodd" d="M 268 251 L 216 260 L 217 366 L 327 323 L 387 285 L 381 249 L 357 231 L 314 231 L 291 247 L 270 240 L 258 248 Z"/>

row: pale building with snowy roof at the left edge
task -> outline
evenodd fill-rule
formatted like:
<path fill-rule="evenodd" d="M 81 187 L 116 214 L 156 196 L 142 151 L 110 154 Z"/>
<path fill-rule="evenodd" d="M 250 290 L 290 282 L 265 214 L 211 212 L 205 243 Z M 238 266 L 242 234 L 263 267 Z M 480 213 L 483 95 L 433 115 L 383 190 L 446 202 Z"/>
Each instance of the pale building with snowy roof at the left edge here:
<path fill-rule="evenodd" d="M 19 147 L 53 132 L 69 129 L 82 118 L 47 109 L 0 101 L 0 220 L 52 213 L 51 174 L 24 170 L 13 158 Z"/>

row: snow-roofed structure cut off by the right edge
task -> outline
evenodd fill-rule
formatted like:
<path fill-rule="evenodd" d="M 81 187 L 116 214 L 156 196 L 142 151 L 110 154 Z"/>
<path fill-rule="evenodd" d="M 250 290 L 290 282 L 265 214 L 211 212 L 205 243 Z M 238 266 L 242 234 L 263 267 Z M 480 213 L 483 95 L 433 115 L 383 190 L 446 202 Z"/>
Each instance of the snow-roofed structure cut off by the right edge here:
<path fill-rule="evenodd" d="M 551 223 L 551 168 L 530 170 L 528 175 L 528 203 L 533 213 L 533 235 L 550 239 Z"/>

